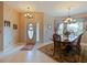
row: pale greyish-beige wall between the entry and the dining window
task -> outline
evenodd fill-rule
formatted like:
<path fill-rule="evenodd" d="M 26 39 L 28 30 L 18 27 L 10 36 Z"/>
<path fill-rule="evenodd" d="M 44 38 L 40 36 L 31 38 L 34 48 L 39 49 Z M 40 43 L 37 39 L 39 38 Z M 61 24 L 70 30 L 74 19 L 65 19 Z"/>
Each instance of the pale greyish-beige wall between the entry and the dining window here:
<path fill-rule="evenodd" d="M 51 29 L 48 29 L 48 24 L 51 25 Z M 54 18 L 44 14 L 44 43 L 52 43 L 52 36 L 54 32 Z"/>

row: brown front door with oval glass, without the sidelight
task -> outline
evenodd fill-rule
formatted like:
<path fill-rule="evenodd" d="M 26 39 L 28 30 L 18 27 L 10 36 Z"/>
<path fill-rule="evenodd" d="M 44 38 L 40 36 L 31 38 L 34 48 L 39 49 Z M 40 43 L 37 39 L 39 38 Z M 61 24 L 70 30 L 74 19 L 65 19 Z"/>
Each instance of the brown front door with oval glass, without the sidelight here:
<path fill-rule="evenodd" d="M 36 41 L 36 24 L 29 22 L 26 25 L 26 44 L 35 44 Z"/>

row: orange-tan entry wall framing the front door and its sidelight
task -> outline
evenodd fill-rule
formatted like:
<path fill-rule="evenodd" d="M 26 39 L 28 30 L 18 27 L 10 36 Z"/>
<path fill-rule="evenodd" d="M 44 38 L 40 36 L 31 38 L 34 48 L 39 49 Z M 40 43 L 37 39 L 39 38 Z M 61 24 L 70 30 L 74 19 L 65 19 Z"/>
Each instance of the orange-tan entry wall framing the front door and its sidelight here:
<path fill-rule="evenodd" d="M 44 18 L 44 14 L 42 12 L 35 12 L 33 20 L 28 20 L 23 13 L 20 13 L 19 39 L 21 43 L 26 43 L 26 24 L 29 22 L 40 23 L 40 41 L 43 42 L 43 18 Z"/>

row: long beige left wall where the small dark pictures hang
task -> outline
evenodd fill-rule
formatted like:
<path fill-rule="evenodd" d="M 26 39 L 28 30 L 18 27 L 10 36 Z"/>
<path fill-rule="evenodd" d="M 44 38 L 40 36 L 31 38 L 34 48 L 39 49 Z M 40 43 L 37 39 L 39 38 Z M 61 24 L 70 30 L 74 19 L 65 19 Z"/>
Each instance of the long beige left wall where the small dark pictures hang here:
<path fill-rule="evenodd" d="M 4 3 L 3 21 L 10 21 L 10 26 L 3 26 L 3 47 L 4 51 L 11 50 L 19 40 L 19 12 Z M 13 24 L 18 24 L 18 30 L 13 30 Z"/>

